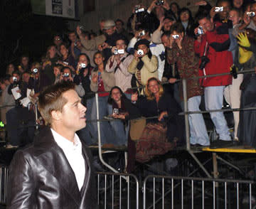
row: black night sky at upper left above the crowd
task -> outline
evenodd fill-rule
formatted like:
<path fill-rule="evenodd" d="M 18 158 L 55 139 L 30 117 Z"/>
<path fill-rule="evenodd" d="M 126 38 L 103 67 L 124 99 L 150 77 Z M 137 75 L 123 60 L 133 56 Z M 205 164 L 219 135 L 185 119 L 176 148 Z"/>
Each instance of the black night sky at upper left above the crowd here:
<path fill-rule="evenodd" d="M 17 65 L 23 54 L 28 55 L 31 61 L 41 61 L 46 48 L 52 44 L 53 36 L 68 31 L 63 18 L 32 14 L 29 0 L 1 0 L 0 8 L 1 75 L 9 63 Z"/>

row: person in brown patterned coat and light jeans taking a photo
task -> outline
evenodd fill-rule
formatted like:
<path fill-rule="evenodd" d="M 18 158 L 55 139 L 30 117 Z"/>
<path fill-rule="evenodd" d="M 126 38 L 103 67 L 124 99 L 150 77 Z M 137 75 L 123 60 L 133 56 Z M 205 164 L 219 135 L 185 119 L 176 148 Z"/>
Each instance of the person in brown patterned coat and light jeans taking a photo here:
<path fill-rule="evenodd" d="M 186 79 L 188 94 L 188 111 L 200 111 L 201 95 L 203 89 L 199 85 L 198 79 L 198 57 L 193 49 L 194 40 L 185 36 L 185 31 L 181 23 L 171 26 L 171 36 L 169 50 L 167 50 L 167 60 L 169 64 L 177 63 L 178 73 L 181 79 Z M 189 79 L 189 80 L 187 80 Z M 171 78 L 169 82 L 176 82 Z M 180 89 L 181 100 L 183 100 L 182 89 Z M 195 146 L 208 146 L 210 140 L 206 130 L 206 124 L 202 114 L 189 114 L 190 143 Z"/>

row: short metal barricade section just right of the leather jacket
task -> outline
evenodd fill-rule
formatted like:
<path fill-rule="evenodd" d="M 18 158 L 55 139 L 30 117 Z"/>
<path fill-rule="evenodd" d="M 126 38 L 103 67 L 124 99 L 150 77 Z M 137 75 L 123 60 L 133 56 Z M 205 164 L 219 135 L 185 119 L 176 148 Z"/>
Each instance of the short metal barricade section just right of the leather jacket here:
<path fill-rule="evenodd" d="M 100 208 L 139 209 L 139 181 L 133 174 L 97 173 Z"/>

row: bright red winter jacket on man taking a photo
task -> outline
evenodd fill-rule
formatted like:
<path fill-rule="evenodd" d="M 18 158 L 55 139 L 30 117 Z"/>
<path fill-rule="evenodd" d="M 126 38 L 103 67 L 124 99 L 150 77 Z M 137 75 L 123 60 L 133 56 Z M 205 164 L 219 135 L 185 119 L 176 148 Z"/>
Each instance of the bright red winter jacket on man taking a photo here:
<path fill-rule="evenodd" d="M 202 57 L 206 47 L 206 42 L 208 42 L 208 53 L 206 53 L 206 55 L 210 59 L 210 62 L 206 64 L 205 75 L 230 73 L 230 66 L 233 65 L 232 53 L 230 51 L 223 50 L 218 52 L 213 48 L 213 45 L 218 45 L 218 47 L 221 48 L 228 43 L 228 34 L 218 34 L 217 32 L 218 27 L 221 26 L 222 23 L 215 23 L 215 29 L 213 31 L 207 31 L 202 36 L 201 43 L 198 41 L 195 41 L 194 43 L 195 52 Z M 199 76 L 204 75 L 203 70 L 200 69 L 198 71 Z M 217 77 L 206 77 L 202 78 L 200 83 L 203 87 L 230 85 L 232 84 L 232 76 L 222 75 Z"/>

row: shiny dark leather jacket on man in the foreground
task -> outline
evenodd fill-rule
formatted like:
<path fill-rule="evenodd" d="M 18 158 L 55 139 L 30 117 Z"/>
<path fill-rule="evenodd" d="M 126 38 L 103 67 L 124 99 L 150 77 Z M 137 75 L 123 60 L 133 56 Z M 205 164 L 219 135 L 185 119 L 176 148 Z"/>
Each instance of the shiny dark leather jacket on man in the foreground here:
<path fill-rule="evenodd" d="M 97 208 L 92 157 L 81 143 L 85 181 L 79 191 L 63 150 L 55 143 L 50 128 L 43 128 L 33 144 L 17 151 L 11 161 L 7 208 Z"/>

